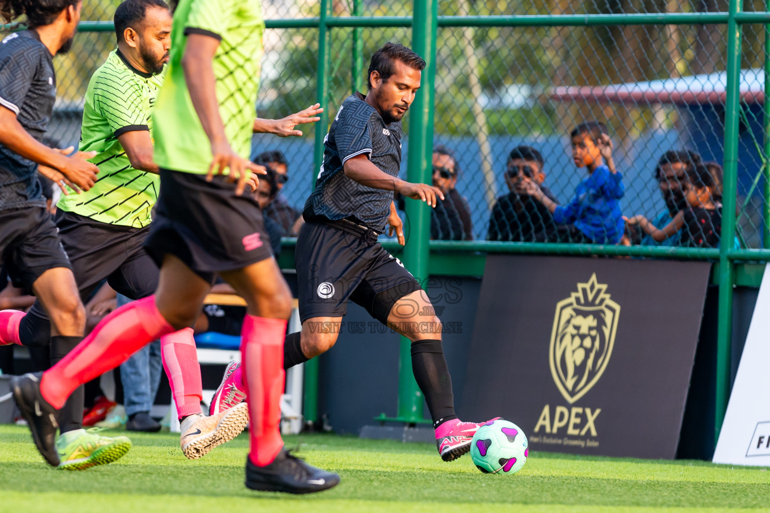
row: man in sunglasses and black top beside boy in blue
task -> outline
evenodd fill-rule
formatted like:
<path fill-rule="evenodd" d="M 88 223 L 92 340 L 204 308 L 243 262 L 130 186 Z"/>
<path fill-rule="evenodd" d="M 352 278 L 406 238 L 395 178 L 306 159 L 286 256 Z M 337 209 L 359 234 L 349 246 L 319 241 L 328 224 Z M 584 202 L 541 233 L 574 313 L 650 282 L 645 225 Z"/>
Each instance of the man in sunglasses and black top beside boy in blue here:
<path fill-rule="evenodd" d="M 543 155 L 535 148 L 521 145 L 511 150 L 505 172 L 505 184 L 510 192 L 497 198 L 492 207 L 488 240 L 557 242 L 558 228 L 551 211 L 527 193 L 527 182 L 535 182 L 541 192 L 556 203 L 551 190 L 543 185 L 543 168 Z"/>

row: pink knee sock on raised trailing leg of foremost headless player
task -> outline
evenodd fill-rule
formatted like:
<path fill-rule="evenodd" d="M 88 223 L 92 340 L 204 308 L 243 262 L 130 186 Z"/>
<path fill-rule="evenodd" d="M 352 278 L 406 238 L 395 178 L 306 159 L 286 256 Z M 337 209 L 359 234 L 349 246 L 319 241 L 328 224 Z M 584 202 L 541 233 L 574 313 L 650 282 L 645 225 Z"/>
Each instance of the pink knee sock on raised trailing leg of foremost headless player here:
<path fill-rule="evenodd" d="M 176 330 L 160 315 L 154 295 L 122 306 L 43 373 L 40 392 L 54 408 L 62 408 L 79 385 L 112 370 L 149 342 L 172 331 Z"/>

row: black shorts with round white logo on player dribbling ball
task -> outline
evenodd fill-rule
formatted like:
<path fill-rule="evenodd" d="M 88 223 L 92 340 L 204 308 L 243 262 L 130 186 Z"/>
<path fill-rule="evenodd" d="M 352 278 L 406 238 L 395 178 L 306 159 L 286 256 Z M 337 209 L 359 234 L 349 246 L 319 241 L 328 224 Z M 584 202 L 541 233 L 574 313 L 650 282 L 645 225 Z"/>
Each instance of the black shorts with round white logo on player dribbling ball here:
<path fill-rule="evenodd" d="M 294 254 L 300 321 L 342 317 L 347 300 L 383 324 L 396 302 L 420 284 L 379 242 L 316 222 L 300 230 Z"/>

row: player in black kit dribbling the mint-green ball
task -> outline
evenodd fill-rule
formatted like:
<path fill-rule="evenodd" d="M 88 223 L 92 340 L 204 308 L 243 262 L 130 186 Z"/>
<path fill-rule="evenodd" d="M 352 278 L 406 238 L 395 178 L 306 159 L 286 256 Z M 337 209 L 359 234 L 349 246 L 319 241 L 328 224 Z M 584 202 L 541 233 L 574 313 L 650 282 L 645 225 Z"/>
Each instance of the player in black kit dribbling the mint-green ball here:
<path fill-rule="evenodd" d="M 339 330 L 312 330 L 313 323 L 339 325 L 348 300 L 412 341 L 412 369 L 427 401 L 438 451 L 452 461 L 470 451 L 480 424 L 454 412 L 452 381 L 441 345 L 440 320 L 417 280 L 377 237 L 390 226 L 403 244 L 393 192 L 431 207 L 440 189 L 398 178 L 401 118 L 420 88 L 425 62 L 403 45 L 387 43 L 369 66 L 369 92 L 345 99 L 324 142 L 323 166 L 307 199 L 296 244 L 299 308 L 303 329 L 286 337 L 284 366 L 331 348 Z M 410 315 L 397 315 L 404 312 Z M 330 331 L 321 333 L 320 331 Z"/>

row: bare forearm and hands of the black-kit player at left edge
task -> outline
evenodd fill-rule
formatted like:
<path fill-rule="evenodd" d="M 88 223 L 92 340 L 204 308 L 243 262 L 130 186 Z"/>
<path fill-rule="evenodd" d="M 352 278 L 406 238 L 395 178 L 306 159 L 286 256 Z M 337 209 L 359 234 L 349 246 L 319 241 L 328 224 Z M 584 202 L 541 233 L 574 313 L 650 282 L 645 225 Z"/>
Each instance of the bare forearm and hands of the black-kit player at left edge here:
<path fill-rule="evenodd" d="M 8 108 L 0 108 L 0 144 L 32 162 L 58 170 L 63 175 L 56 181 L 59 185 L 62 179 L 66 179 L 78 188 L 88 191 L 96 182 L 96 173 L 99 172 L 99 168 L 85 160 L 94 155 L 78 152 L 72 157 L 67 157 L 38 142 L 29 135 L 16 119 L 15 113 Z M 43 170 L 44 175 L 46 172 Z"/>

